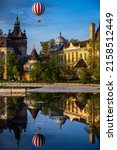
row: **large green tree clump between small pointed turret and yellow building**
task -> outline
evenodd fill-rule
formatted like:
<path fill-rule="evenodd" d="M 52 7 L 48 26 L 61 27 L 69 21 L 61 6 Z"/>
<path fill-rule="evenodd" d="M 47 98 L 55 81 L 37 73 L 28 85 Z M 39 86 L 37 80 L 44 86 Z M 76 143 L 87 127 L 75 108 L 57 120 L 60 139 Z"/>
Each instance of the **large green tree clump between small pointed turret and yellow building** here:
<path fill-rule="evenodd" d="M 59 61 L 58 55 L 53 54 L 51 59 L 35 63 L 29 72 L 33 81 L 58 82 L 69 81 L 75 76 L 75 70 Z"/>

